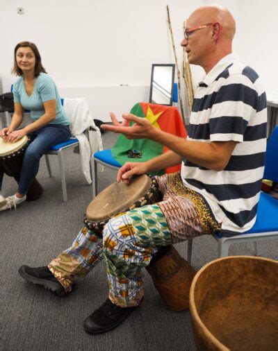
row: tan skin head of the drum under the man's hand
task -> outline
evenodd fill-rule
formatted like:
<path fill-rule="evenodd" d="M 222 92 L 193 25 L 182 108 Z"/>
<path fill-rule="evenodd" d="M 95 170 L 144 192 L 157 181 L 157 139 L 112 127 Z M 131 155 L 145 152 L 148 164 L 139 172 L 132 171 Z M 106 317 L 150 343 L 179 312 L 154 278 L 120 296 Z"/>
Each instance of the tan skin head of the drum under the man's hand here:
<path fill-rule="evenodd" d="M 101 191 L 87 208 L 89 221 L 104 221 L 130 207 L 144 196 L 151 187 L 152 179 L 143 174 L 135 177 L 129 185 L 113 183 Z"/>

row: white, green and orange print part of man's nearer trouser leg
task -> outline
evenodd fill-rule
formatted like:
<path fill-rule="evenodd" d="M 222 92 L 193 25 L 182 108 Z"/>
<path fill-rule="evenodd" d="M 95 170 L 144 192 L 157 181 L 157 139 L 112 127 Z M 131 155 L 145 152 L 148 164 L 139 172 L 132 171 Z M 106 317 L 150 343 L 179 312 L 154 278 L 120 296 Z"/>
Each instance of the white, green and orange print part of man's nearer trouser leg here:
<path fill-rule="evenodd" d="M 170 231 L 157 205 L 143 206 L 139 212 L 133 209 L 112 219 L 104 228 L 109 298 L 121 307 L 140 304 L 142 268 L 148 266 L 159 246 L 171 243 Z"/>

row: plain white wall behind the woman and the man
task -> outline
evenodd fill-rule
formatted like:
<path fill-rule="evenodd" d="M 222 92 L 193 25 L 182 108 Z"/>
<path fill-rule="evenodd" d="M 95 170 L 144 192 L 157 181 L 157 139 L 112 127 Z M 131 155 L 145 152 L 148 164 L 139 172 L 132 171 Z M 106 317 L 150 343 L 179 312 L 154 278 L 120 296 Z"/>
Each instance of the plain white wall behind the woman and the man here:
<path fill-rule="evenodd" d="M 33 41 L 60 95 L 87 97 L 92 114 L 108 120 L 110 110 L 120 114 L 133 103 L 148 100 L 152 63 L 174 63 L 166 4 L 170 6 L 181 69 L 183 20 L 195 8 L 212 2 L 215 1 L 0 0 L 3 91 L 8 91 L 15 81 L 10 74 L 15 45 L 22 40 Z M 238 22 L 234 48 L 263 74 L 266 86 L 274 89 L 276 2 L 218 3 L 227 6 Z M 273 3 L 273 7 L 265 8 L 268 3 Z M 17 6 L 24 7 L 24 15 L 17 14 Z M 192 67 L 192 71 L 197 83 L 204 71 L 199 67 Z M 184 85 L 182 89 L 186 96 Z"/>

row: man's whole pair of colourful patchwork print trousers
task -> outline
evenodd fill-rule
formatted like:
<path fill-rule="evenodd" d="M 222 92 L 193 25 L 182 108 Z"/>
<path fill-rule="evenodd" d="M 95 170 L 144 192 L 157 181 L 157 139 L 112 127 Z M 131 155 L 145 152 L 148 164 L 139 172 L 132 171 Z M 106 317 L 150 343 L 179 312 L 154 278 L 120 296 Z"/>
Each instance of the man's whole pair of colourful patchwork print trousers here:
<path fill-rule="evenodd" d="M 202 201 L 200 206 L 199 198 L 198 203 L 189 195 L 177 194 L 179 187 L 174 179 L 166 175 L 158 178 L 163 200 L 115 216 L 106 223 L 102 236 L 81 228 L 72 246 L 49 264 L 66 291 L 71 291 L 74 277 L 84 277 L 104 258 L 110 300 L 120 307 L 139 305 L 143 297 L 142 268 L 161 246 L 210 234 L 217 228 L 211 216 L 205 216 L 205 221 L 199 216 L 198 209 L 207 210 Z"/>

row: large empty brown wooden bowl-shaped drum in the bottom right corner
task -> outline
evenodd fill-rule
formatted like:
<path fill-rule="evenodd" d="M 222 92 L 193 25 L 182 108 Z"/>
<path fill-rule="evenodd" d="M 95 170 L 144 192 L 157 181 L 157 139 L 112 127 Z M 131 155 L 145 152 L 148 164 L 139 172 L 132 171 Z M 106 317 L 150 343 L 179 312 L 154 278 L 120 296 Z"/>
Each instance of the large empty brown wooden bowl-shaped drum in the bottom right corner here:
<path fill-rule="evenodd" d="M 206 264 L 190 289 L 197 350 L 278 350 L 278 261 L 231 256 Z"/>

